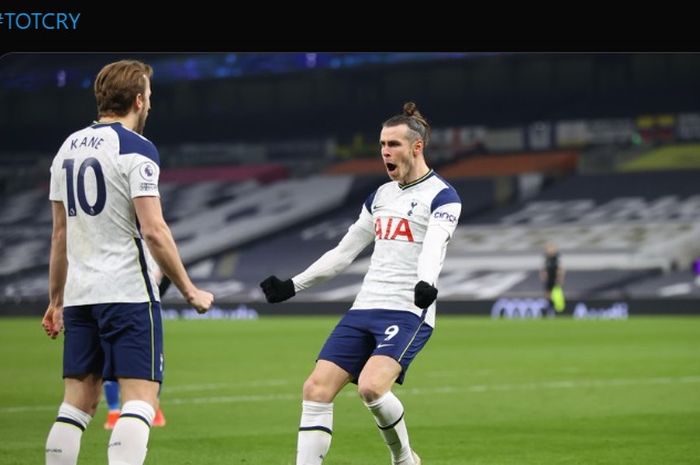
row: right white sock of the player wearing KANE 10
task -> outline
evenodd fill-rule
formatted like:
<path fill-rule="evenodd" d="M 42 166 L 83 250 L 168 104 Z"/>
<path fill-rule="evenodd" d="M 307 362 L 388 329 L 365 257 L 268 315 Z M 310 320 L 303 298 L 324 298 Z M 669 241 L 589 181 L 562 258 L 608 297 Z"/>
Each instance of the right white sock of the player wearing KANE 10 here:
<path fill-rule="evenodd" d="M 109 438 L 109 465 L 143 464 L 155 414 L 151 404 L 143 400 L 130 400 L 122 405 L 122 414 Z"/>

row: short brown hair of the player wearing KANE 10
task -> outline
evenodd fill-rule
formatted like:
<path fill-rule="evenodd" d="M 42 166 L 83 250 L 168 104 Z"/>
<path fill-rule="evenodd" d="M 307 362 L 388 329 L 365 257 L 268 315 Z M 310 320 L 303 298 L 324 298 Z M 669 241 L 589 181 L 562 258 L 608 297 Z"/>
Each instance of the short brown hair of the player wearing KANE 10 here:
<path fill-rule="evenodd" d="M 153 68 L 136 60 L 121 60 L 103 67 L 95 78 L 97 115 L 126 116 L 138 94 L 145 94 Z"/>

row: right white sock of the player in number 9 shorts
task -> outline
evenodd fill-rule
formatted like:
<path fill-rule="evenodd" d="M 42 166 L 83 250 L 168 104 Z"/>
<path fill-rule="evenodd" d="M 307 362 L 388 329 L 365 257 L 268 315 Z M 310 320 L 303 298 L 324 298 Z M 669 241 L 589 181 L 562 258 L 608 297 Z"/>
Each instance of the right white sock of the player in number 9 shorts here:
<path fill-rule="evenodd" d="M 408 431 L 403 418 L 404 409 L 399 398 L 389 391 L 365 405 L 374 415 L 379 432 L 391 451 L 391 460 L 395 464 L 412 464 L 411 445 L 408 443 Z"/>

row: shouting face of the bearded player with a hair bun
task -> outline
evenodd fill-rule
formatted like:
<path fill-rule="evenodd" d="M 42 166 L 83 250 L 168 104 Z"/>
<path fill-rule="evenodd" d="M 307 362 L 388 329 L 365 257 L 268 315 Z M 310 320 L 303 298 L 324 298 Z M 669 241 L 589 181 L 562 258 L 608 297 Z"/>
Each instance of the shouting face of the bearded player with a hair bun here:
<path fill-rule="evenodd" d="M 418 179 L 416 157 L 423 154 L 423 140 L 408 126 L 401 124 L 382 128 L 379 142 L 382 146 L 382 161 L 389 177 L 401 184 Z"/>

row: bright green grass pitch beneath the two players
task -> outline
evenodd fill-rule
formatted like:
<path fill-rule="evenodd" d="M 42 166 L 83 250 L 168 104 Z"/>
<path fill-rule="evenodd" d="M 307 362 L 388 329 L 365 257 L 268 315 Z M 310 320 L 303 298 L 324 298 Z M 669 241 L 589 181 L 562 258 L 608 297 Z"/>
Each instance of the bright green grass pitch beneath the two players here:
<path fill-rule="evenodd" d="M 301 385 L 337 320 L 166 321 L 168 423 L 146 465 L 293 465 Z M 0 323 L 0 464 L 44 463 L 62 342 L 40 318 Z M 354 388 L 336 399 L 325 464 L 389 465 Z M 395 392 L 424 465 L 700 464 L 700 318 L 438 316 Z M 79 463 L 106 463 L 105 415 Z"/>

